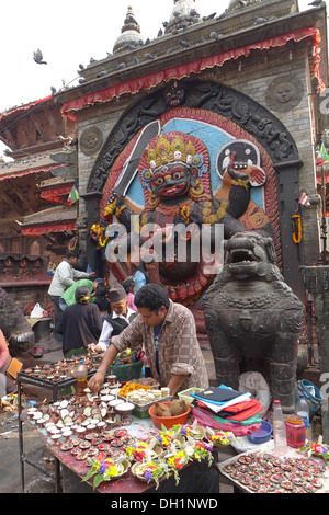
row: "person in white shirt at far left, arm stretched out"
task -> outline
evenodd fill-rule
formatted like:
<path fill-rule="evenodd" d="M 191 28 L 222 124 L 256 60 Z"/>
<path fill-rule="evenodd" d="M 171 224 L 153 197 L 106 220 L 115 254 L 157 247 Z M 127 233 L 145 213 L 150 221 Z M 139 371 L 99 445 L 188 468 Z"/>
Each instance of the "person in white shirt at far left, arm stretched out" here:
<path fill-rule="evenodd" d="M 81 272 L 76 270 L 75 266 L 79 260 L 79 254 L 73 251 L 68 251 L 66 258 L 57 266 L 55 274 L 53 276 L 48 295 L 50 297 L 50 302 L 54 307 L 54 318 L 55 318 L 55 328 L 54 328 L 54 337 L 57 342 L 61 342 L 61 336 L 58 333 L 58 325 L 61 319 L 63 311 L 59 307 L 59 299 L 65 293 L 65 290 L 75 284 L 75 279 L 82 278 L 93 278 L 94 272 L 88 274 L 87 272 Z"/>

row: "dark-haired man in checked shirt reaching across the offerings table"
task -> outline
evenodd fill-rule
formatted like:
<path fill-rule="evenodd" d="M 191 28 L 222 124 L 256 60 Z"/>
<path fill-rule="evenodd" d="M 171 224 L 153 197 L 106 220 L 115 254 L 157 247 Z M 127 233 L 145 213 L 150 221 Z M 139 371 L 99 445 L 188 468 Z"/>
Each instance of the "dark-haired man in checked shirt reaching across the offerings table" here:
<path fill-rule="evenodd" d="M 152 283 L 135 296 L 138 316 L 113 336 L 97 373 L 88 386 L 97 393 L 118 353 L 144 346 L 152 377 L 170 394 L 189 388 L 207 388 L 208 376 L 196 337 L 195 320 L 185 306 L 173 302 L 166 289 Z"/>

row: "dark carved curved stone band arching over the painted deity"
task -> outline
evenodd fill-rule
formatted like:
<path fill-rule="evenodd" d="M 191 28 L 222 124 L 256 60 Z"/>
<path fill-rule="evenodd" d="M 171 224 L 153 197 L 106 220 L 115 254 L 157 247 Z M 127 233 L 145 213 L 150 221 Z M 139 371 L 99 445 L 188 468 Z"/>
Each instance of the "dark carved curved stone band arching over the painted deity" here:
<path fill-rule="evenodd" d="M 215 82 L 182 81 L 184 98 L 181 107 L 205 110 L 222 115 L 249 133 L 266 151 L 272 163 L 299 160 L 296 144 L 284 125 L 265 107 L 243 93 Z M 166 101 L 168 87 L 139 101 L 123 114 L 105 144 L 91 171 L 88 192 L 101 192 L 113 163 L 147 124 L 159 118 L 173 105 Z"/>

